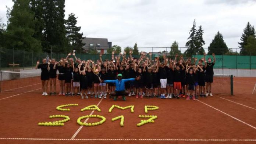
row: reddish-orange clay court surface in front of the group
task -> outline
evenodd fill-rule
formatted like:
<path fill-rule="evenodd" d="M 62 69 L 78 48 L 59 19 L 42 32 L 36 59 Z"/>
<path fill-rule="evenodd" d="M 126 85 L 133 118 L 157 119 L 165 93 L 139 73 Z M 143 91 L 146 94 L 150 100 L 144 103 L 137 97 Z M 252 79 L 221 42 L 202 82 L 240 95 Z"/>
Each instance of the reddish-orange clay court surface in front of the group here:
<path fill-rule="evenodd" d="M 255 144 L 256 143 L 256 93 L 252 90 L 256 78 L 234 78 L 234 96 L 214 95 L 199 100 L 136 99 L 127 101 L 80 97 L 42 96 L 31 92 L 2 92 L 0 94 L 0 143 L 182 143 L 182 144 Z M 40 88 L 40 84 L 39 84 Z M 214 94 L 214 92 L 213 92 Z M 63 104 L 79 104 L 68 107 L 70 111 L 57 111 Z M 83 111 L 89 105 L 98 105 L 101 112 Z M 130 109 L 113 109 L 134 105 Z M 145 105 L 156 105 L 158 110 L 144 111 Z M 99 126 L 80 126 L 77 119 L 85 115 L 102 115 L 106 122 Z M 39 122 L 61 120 L 50 119 L 50 115 L 67 115 L 70 121 L 64 126 L 38 126 Z M 124 115 L 124 127 L 120 120 L 111 119 Z M 136 124 L 138 115 L 157 115 L 154 123 L 141 127 Z M 85 119 L 84 119 L 85 120 Z M 84 121 L 83 120 L 83 121 Z M 87 122 L 98 121 L 90 118 Z"/>

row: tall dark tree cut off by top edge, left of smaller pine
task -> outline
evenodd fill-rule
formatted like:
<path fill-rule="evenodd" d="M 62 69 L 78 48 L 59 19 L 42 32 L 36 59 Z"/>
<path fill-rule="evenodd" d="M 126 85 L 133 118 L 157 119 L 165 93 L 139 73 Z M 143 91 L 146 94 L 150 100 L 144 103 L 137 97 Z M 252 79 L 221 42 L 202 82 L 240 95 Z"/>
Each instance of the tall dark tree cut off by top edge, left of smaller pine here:
<path fill-rule="evenodd" d="M 65 31 L 65 0 L 44 0 L 44 22 L 43 33 L 44 51 L 50 52 L 50 46 L 56 45 L 58 48 L 54 52 L 65 53 L 65 47 L 68 45 Z"/>

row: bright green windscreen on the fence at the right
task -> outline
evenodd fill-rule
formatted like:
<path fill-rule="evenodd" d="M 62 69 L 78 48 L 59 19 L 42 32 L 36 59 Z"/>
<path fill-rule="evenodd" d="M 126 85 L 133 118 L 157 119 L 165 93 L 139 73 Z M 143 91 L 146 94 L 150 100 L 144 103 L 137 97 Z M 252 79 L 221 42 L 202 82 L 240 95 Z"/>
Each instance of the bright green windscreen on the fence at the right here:
<path fill-rule="evenodd" d="M 203 55 L 193 55 L 198 59 L 203 58 Z M 207 59 L 212 55 L 206 55 Z M 216 62 L 214 68 L 224 69 L 256 69 L 256 56 L 250 55 L 216 55 Z"/>

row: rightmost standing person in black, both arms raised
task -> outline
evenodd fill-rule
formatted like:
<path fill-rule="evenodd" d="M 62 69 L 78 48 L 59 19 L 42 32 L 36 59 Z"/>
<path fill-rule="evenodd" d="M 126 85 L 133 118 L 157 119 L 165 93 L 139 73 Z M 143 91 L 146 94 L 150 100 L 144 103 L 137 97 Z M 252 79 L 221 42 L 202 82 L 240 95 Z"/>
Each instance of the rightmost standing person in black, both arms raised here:
<path fill-rule="evenodd" d="M 204 59 L 205 59 L 205 55 L 206 53 L 204 53 Z M 211 62 L 211 58 L 208 58 L 208 62 L 205 63 L 205 81 L 206 81 L 206 94 L 205 96 L 208 96 L 208 94 L 210 96 L 213 96 L 213 94 L 211 93 L 211 84 L 213 83 L 213 66 L 215 64 L 215 54 L 213 53 L 213 62 Z M 209 93 L 208 93 L 209 92 Z"/>

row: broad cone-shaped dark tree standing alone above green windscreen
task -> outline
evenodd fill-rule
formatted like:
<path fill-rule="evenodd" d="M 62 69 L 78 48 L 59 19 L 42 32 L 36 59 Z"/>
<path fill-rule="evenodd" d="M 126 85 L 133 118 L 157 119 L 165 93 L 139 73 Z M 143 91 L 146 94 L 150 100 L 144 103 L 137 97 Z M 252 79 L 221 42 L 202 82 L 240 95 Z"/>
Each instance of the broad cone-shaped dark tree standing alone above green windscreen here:
<path fill-rule="evenodd" d="M 214 39 L 211 41 L 210 46 L 208 47 L 208 54 L 215 53 L 216 55 L 222 55 L 227 53 L 228 47 L 224 42 L 223 36 L 220 32 L 214 36 Z"/>

